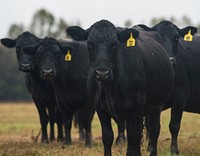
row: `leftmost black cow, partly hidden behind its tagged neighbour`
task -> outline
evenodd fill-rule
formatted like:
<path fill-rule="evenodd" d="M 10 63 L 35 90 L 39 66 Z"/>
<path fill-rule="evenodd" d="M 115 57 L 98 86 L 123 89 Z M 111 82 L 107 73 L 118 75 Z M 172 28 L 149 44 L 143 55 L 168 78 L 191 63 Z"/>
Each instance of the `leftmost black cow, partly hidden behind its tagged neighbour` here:
<path fill-rule="evenodd" d="M 23 48 L 30 45 L 36 45 L 39 38 L 29 32 L 24 32 L 16 39 L 4 38 L 1 43 L 8 47 L 16 49 L 19 69 L 25 72 L 25 82 L 29 93 L 37 107 L 39 113 L 40 124 L 42 128 L 41 142 L 48 142 L 47 124 L 50 121 L 50 141 L 55 140 L 54 123 L 58 125 L 58 140 L 63 139 L 62 120 L 60 113 L 55 107 L 54 92 L 49 82 L 40 80 L 37 70 L 34 68 L 32 57 L 23 53 Z M 48 112 L 46 111 L 48 108 Z"/>

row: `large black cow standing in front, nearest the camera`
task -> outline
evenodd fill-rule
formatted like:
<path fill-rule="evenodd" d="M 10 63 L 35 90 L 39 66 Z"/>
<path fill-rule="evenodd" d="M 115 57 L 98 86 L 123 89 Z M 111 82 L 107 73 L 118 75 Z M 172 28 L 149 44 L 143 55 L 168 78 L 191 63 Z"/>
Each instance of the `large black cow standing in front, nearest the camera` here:
<path fill-rule="evenodd" d="M 150 155 L 157 155 L 160 112 L 173 85 L 165 50 L 149 33 L 137 27 L 118 31 L 106 20 L 87 30 L 69 27 L 67 32 L 87 43 L 88 92 L 101 122 L 104 155 L 111 155 L 111 118 L 126 120 L 127 155 L 141 155 L 143 116 L 149 121 Z"/>

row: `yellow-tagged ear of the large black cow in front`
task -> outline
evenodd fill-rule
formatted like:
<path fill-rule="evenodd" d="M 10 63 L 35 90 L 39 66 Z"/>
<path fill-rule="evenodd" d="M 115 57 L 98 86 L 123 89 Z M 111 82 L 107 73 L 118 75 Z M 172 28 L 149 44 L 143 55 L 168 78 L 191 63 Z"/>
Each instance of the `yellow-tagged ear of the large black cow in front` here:
<path fill-rule="evenodd" d="M 120 42 L 126 42 L 131 37 L 136 39 L 138 37 L 138 35 L 139 35 L 139 31 L 137 31 L 135 29 L 125 29 L 125 30 L 117 33 L 117 37 Z"/>

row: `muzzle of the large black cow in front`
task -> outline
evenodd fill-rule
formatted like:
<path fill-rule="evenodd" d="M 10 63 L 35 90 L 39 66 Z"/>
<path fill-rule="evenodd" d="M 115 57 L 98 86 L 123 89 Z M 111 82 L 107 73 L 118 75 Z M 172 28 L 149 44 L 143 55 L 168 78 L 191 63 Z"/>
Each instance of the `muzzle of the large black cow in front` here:
<path fill-rule="evenodd" d="M 95 78 L 98 81 L 108 81 L 112 78 L 111 75 L 112 74 L 109 69 L 100 68 L 95 70 Z"/>

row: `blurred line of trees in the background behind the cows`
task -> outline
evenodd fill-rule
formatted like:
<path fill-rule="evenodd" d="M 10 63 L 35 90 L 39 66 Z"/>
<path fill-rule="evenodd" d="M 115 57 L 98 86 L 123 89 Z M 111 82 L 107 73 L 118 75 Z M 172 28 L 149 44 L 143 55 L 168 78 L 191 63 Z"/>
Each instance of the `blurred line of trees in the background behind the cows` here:
<path fill-rule="evenodd" d="M 149 26 L 153 26 L 165 17 L 155 17 L 150 20 Z M 189 17 L 183 16 L 181 19 L 171 17 L 170 21 L 174 22 L 177 26 L 185 27 L 193 25 Z M 76 23 L 76 25 L 80 25 Z M 124 23 L 125 27 L 131 27 L 132 20 L 127 20 Z M 38 37 L 54 37 L 66 38 L 65 30 L 69 24 L 63 19 L 56 19 L 55 16 L 45 10 L 40 9 L 35 12 L 29 26 L 24 24 L 13 23 L 8 30 L 7 36 L 15 39 L 24 31 L 30 31 Z M 200 23 L 194 25 L 200 31 Z M 0 101 L 29 101 L 30 95 L 27 92 L 24 73 L 18 71 L 18 63 L 14 49 L 7 49 L 0 44 Z"/>

